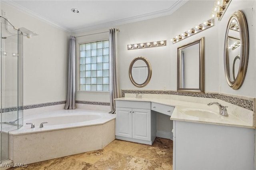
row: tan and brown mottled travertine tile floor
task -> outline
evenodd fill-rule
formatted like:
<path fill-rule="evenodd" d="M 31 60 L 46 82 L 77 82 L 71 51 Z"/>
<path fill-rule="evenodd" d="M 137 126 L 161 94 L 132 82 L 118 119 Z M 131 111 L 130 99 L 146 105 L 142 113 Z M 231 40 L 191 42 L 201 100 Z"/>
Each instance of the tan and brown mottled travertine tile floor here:
<path fill-rule="evenodd" d="M 164 138 L 156 138 L 152 146 L 116 139 L 101 150 L 9 170 L 172 170 L 172 145 Z"/>

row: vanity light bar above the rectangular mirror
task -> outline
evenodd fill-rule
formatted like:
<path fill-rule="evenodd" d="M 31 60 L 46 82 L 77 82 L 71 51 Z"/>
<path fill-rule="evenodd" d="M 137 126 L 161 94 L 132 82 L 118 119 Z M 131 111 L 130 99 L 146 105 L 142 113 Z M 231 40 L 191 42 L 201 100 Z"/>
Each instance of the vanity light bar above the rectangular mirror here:
<path fill-rule="evenodd" d="M 194 28 L 191 28 L 190 30 L 183 32 L 182 34 L 172 38 L 171 42 L 172 42 L 172 44 L 174 44 L 174 43 L 184 40 L 190 36 L 193 36 L 193 35 L 197 34 L 198 32 L 204 31 L 207 28 L 210 28 L 212 26 L 214 26 L 214 19 L 204 21 L 202 24 L 199 24 L 199 25 L 195 26 Z"/>

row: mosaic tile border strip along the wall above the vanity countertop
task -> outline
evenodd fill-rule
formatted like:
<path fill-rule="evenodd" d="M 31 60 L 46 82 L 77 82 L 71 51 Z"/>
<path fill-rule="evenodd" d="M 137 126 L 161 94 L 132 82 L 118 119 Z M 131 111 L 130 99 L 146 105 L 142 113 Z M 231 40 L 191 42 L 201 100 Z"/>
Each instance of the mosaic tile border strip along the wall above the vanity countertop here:
<path fill-rule="evenodd" d="M 190 96 L 190 97 L 204 97 L 212 99 L 220 99 L 228 103 L 243 107 L 250 111 L 254 111 L 254 101 L 252 99 L 242 99 L 238 97 L 232 97 L 229 95 L 218 94 L 218 93 L 182 93 L 177 91 L 162 91 L 162 90 L 122 90 L 122 97 L 125 93 L 143 93 L 143 94 L 164 94 L 164 95 L 180 95 L 180 96 Z"/>

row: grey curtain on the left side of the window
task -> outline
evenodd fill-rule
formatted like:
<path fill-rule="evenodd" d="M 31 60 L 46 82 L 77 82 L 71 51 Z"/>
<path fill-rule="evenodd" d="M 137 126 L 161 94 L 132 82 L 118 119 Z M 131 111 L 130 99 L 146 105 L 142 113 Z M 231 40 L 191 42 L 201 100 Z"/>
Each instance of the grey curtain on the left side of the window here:
<path fill-rule="evenodd" d="M 68 93 L 65 109 L 76 109 L 76 38 L 70 36 L 68 52 Z"/>

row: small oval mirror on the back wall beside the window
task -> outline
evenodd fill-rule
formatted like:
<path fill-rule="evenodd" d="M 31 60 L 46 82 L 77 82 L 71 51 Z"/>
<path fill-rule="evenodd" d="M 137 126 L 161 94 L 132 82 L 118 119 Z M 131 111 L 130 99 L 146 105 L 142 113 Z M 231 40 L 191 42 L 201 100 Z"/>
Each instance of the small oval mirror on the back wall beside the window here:
<path fill-rule="evenodd" d="M 132 60 L 129 67 L 129 77 L 136 87 L 146 86 L 152 75 L 150 62 L 145 57 L 139 56 Z"/>

